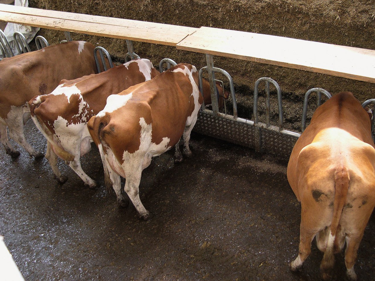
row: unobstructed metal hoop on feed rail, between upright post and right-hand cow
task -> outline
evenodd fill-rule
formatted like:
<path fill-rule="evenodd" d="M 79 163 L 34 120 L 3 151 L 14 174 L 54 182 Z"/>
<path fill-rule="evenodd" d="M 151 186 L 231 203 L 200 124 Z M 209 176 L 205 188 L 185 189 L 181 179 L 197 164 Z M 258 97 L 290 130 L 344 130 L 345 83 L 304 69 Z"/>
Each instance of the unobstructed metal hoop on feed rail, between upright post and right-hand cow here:
<path fill-rule="evenodd" d="M 281 97 L 281 89 L 275 80 L 268 77 L 259 78 L 255 81 L 254 85 L 254 107 L 253 107 L 253 114 L 254 114 L 254 124 L 258 124 L 258 87 L 261 81 L 266 82 L 266 126 L 269 128 L 270 124 L 270 83 L 272 83 L 276 88 L 276 93 L 278 95 L 278 110 L 279 110 L 279 131 L 283 130 L 284 127 L 284 117 L 282 112 L 282 97 Z"/>

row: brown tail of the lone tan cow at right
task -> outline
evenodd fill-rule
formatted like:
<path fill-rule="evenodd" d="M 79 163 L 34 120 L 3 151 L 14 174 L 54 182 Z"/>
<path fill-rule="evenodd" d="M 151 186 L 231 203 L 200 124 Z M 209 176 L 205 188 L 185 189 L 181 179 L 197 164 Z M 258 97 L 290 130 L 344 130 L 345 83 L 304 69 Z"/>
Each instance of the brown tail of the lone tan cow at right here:
<path fill-rule="evenodd" d="M 335 198 L 333 201 L 333 215 L 330 226 L 330 233 L 328 236 L 327 248 L 324 252 L 323 260 L 320 264 L 320 270 L 323 273 L 323 279 L 329 278 L 328 272 L 333 268 L 335 263 L 334 256 L 334 245 L 335 238 L 342 214 L 342 209 L 347 200 L 347 194 L 349 189 L 349 173 L 345 167 L 337 169 L 335 171 Z"/>

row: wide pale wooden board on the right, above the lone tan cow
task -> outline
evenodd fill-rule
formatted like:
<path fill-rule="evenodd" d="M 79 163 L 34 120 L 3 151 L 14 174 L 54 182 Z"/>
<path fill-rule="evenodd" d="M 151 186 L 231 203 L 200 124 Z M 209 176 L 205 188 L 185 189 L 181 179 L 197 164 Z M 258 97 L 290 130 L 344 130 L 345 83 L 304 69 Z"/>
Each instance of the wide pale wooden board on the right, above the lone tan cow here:
<path fill-rule="evenodd" d="M 375 51 L 369 49 L 210 27 L 176 48 L 375 83 Z"/>

